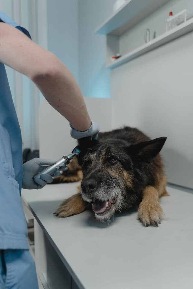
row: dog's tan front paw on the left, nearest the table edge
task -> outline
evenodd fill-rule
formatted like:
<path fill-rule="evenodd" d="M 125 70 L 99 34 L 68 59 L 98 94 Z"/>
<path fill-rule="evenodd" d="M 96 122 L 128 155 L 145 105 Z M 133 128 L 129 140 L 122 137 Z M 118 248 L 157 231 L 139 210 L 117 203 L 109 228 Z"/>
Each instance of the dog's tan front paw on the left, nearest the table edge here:
<path fill-rule="evenodd" d="M 81 194 L 75 194 L 66 199 L 54 213 L 59 218 L 77 215 L 86 209 Z"/>

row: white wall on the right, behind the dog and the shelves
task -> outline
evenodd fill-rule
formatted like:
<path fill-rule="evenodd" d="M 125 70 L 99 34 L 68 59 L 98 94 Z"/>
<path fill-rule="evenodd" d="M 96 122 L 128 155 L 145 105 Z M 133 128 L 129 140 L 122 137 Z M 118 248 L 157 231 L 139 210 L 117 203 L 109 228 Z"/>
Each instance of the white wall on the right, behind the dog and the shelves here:
<path fill-rule="evenodd" d="M 169 11 L 193 10 L 191 0 L 172 0 L 127 33 L 124 49 L 143 43 L 144 29 L 165 29 Z M 164 16 L 164 17 L 163 17 Z M 160 23 L 159 23 L 160 21 Z M 128 47 L 126 45 L 128 43 Z M 111 73 L 113 127 L 137 126 L 151 138 L 167 136 L 163 157 L 169 182 L 193 188 L 193 33 Z"/>

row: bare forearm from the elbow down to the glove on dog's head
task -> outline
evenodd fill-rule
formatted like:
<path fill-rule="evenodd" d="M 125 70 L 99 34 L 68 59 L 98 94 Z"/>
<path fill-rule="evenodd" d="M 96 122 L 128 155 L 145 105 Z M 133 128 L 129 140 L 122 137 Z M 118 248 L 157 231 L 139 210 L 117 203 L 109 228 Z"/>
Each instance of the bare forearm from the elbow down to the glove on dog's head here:
<path fill-rule="evenodd" d="M 33 81 L 47 101 L 79 131 L 86 131 L 91 120 L 78 84 L 70 71 L 55 60 L 53 73 L 36 76 Z"/>

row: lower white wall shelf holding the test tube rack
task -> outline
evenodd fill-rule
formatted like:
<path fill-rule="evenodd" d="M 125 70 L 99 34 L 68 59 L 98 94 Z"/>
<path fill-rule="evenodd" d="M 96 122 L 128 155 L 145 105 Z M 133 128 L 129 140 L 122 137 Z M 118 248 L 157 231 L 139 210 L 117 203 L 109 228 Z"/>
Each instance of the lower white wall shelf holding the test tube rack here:
<path fill-rule="evenodd" d="M 141 45 L 140 47 L 134 49 L 133 51 L 121 56 L 117 60 L 113 61 L 112 64 L 107 65 L 106 67 L 109 69 L 118 67 L 119 65 L 131 61 L 132 59 L 139 57 L 140 55 L 145 54 L 148 51 L 151 51 L 163 44 L 166 44 L 167 42 L 170 42 L 192 30 L 193 30 L 193 18 L 180 24 L 174 29 L 160 35 L 159 37 L 151 40 L 149 43 L 145 43 L 144 45 Z"/>

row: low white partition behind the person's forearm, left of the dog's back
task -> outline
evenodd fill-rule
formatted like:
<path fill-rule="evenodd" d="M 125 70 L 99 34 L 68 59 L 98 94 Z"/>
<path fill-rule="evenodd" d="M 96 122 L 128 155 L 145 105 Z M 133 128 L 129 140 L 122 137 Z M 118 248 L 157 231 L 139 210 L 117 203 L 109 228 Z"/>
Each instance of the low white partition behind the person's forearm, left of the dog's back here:
<path fill-rule="evenodd" d="M 100 125 L 100 131 L 111 130 L 111 99 L 84 98 L 90 117 Z M 100 111 L 100 115 L 99 112 Z M 47 116 L 50 116 L 47 118 Z M 58 160 L 70 154 L 77 141 L 70 136 L 70 126 L 44 99 L 40 104 L 40 157 Z M 57 129 L 58 128 L 58 129 Z"/>

